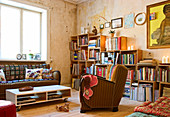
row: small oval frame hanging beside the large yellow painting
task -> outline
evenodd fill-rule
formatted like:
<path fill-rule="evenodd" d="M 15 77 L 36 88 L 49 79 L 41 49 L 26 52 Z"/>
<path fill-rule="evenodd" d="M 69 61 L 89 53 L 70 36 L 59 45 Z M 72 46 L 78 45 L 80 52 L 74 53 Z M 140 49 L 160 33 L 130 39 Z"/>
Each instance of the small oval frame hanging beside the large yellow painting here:
<path fill-rule="evenodd" d="M 138 13 L 134 19 L 135 24 L 143 25 L 146 22 L 146 14 L 144 12 Z"/>

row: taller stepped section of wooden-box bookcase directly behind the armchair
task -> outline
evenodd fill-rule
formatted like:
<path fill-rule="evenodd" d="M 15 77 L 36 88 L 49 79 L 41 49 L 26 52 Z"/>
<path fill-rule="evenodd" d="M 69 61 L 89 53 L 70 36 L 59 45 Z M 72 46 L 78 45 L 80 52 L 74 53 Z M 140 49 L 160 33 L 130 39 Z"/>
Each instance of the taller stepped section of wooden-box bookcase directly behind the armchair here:
<path fill-rule="evenodd" d="M 70 50 L 72 85 L 75 85 L 74 80 L 80 79 L 83 73 L 105 77 L 107 66 L 118 63 L 129 69 L 126 87 L 130 90 L 133 80 L 136 79 L 136 64 L 142 60 L 141 50 L 127 50 L 127 37 L 124 36 L 71 36 Z"/>

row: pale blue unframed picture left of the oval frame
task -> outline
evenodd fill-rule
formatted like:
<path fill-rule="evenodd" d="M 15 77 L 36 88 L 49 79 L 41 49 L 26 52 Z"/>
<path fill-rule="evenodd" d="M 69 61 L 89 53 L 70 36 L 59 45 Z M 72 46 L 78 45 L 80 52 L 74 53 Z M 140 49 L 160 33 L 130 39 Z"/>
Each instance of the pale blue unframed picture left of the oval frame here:
<path fill-rule="evenodd" d="M 125 20 L 125 25 L 124 25 L 125 28 L 134 27 L 134 13 L 125 15 L 124 20 Z"/>

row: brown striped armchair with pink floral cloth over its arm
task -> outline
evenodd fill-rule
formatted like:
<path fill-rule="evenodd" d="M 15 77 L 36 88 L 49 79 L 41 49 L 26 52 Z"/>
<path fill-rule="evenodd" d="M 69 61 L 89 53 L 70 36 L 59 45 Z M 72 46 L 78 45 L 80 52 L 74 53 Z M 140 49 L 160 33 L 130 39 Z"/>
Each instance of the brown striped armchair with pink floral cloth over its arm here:
<path fill-rule="evenodd" d="M 123 96 L 124 86 L 127 77 L 127 68 L 117 65 L 114 69 L 114 81 L 108 81 L 102 77 L 97 77 L 98 84 L 91 89 L 93 95 L 87 100 L 83 96 L 84 80 L 80 82 L 80 112 L 85 113 L 93 108 L 113 108 L 113 112 L 118 111 L 119 102 Z"/>

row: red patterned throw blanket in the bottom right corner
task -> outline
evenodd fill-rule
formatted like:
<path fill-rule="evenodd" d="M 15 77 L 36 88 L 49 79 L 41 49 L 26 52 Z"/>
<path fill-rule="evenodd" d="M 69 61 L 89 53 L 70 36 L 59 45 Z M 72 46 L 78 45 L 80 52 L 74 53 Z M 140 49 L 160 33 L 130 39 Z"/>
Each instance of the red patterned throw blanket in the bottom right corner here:
<path fill-rule="evenodd" d="M 135 112 L 170 117 L 170 97 L 160 97 L 155 102 L 145 102 L 135 107 Z"/>

